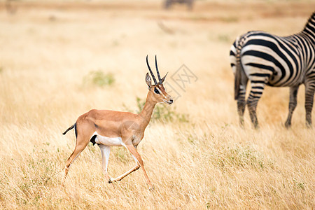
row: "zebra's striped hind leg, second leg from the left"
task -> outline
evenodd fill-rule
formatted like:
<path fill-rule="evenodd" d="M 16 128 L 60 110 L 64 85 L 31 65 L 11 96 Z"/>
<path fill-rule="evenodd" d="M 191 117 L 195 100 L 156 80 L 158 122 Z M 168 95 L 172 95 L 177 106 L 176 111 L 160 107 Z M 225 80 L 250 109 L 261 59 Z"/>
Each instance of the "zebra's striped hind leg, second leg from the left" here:
<path fill-rule="evenodd" d="M 251 117 L 251 123 L 255 129 L 258 129 L 258 120 L 256 115 L 256 108 L 260 97 L 262 96 L 262 92 L 264 91 L 265 81 L 251 81 L 251 92 L 249 93 L 247 99 L 247 107 L 249 111 L 249 116 Z"/>

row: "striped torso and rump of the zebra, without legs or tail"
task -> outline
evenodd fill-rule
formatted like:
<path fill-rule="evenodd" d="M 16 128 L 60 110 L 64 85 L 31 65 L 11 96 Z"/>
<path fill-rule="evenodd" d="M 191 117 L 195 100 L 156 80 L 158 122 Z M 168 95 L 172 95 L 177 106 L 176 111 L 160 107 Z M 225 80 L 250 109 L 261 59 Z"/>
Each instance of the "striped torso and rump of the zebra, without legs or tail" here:
<path fill-rule="evenodd" d="M 312 70 L 303 49 L 307 46 L 307 51 L 312 51 L 307 53 L 314 54 L 314 43 L 299 36 L 281 37 L 264 31 L 249 31 L 237 38 L 231 47 L 233 71 L 237 47 L 244 41 L 240 52 L 241 66 L 251 81 L 264 80 L 267 85 L 276 87 L 303 83 L 307 70 Z"/>

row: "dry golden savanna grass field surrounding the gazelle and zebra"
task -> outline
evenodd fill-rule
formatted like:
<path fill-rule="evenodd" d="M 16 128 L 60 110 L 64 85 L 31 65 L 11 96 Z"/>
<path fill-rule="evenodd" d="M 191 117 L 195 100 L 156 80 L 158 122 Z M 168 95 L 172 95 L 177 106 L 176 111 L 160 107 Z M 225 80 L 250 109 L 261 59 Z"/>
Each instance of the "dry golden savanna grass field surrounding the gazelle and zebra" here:
<path fill-rule="evenodd" d="M 241 129 L 229 62 L 246 31 L 301 31 L 314 1 L 195 1 L 193 10 L 144 0 L 0 3 L 1 209 L 315 208 L 304 86 L 291 129 L 288 87 L 267 87 L 260 129 L 247 110 Z M 162 76 L 169 72 L 175 99 L 155 106 L 138 147 L 155 190 L 141 170 L 107 183 L 91 143 L 62 187 L 76 142 L 73 130 L 62 132 L 90 109 L 141 111 L 146 55 L 153 71 L 157 55 Z M 125 148 L 111 148 L 112 177 L 133 166 Z"/>

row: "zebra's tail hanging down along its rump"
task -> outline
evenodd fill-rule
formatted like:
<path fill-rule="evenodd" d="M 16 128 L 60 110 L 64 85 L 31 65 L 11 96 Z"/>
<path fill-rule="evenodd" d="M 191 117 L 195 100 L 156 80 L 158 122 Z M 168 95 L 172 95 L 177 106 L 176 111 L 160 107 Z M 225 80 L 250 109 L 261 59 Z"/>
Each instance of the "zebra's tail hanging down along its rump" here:
<path fill-rule="evenodd" d="M 241 48 L 244 45 L 245 36 L 239 38 L 236 48 L 236 71 L 235 71 L 235 83 L 234 83 L 234 99 L 239 97 L 239 86 L 241 85 Z"/>

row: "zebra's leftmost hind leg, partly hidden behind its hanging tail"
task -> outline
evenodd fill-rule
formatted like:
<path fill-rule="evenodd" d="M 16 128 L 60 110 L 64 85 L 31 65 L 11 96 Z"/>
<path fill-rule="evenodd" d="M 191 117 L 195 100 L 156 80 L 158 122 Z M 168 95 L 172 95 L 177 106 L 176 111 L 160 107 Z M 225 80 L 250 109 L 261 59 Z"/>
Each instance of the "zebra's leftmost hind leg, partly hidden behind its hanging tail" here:
<path fill-rule="evenodd" d="M 244 127 L 245 96 L 248 78 L 243 71 L 241 73 L 241 86 L 239 87 L 239 97 L 237 98 L 237 113 L 239 113 L 239 125 Z"/>

